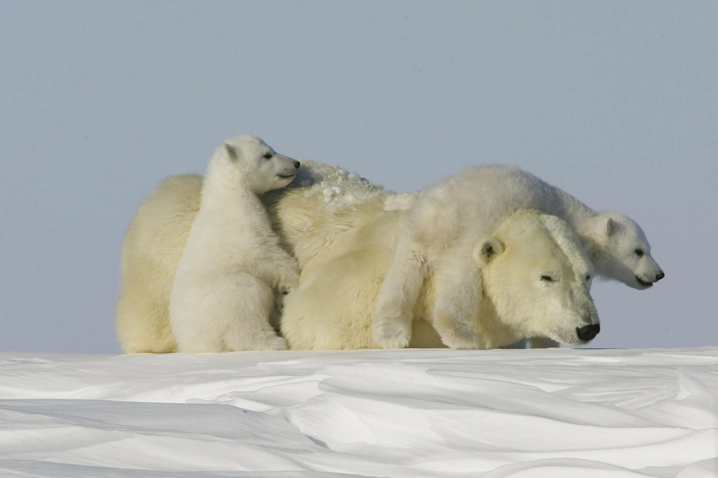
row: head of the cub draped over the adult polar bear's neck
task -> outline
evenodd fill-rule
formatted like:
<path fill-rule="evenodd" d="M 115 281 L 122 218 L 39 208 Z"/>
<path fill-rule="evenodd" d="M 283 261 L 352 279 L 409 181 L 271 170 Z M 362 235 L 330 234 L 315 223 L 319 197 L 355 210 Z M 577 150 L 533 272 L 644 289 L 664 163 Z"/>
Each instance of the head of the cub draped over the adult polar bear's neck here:
<path fill-rule="evenodd" d="M 651 257 L 651 244 L 643 230 L 630 217 L 602 212 L 592 221 L 594 244 L 589 254 L 599 274 L 639 290 L 666 276 Z"/>

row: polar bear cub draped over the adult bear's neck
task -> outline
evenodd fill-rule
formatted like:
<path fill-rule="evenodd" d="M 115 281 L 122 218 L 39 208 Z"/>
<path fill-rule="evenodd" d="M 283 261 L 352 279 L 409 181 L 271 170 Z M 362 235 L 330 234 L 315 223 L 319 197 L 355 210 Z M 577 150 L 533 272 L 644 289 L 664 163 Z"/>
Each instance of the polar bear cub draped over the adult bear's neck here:
<path fill-rule="evenodd" d="M 445 287 L 437 307 L 456 324 L 439 335 L 452 348 L 474 348 L 479 338 L 470 330 L 475 309 L 460 304 L 467 234 L 484 236 L 514 211 L 531 208 L 559 216 L 587 247 L 597 274 L 617 279 L 635 289 L 651 287 L 664 277 L 651 257 L 651 246 L 640 226 L 625 214 L 596 212 L 573 196 L 531 173 L 511 166 L 471 166 L 439 181 L 421 194 L 409 214 L 408 226 L 398 241 L 396 254 L 379 294 L 373 337 L 383 348 L 403 348 L 411 340 L 411 310 L 429 269 L 444 270 Z M 465 267 L 473 267 L 465 264 Z M 477 280 L 481 280 L 480 275 Z M 544 346 L 553 345 L 545 342 Z M 537 344 L 536 344 L 537 345 Z M 534 345 L 534 346 L 536 346 Z"/>

